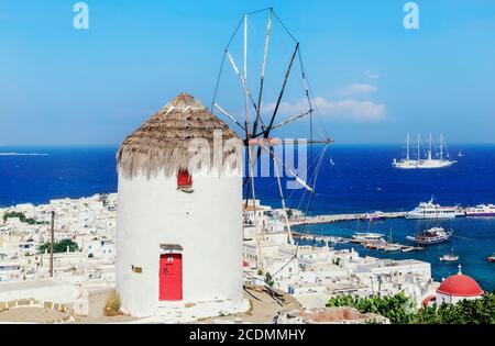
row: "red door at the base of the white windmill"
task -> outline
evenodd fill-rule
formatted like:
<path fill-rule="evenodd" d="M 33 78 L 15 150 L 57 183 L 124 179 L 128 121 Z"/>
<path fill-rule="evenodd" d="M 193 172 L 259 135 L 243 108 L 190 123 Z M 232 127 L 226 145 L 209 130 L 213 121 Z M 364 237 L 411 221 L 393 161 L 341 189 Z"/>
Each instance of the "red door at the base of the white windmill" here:
<path fill-rule="evenodd" d="M 183 299 L 183 255 L 160 256 L 160 300 Z"/>

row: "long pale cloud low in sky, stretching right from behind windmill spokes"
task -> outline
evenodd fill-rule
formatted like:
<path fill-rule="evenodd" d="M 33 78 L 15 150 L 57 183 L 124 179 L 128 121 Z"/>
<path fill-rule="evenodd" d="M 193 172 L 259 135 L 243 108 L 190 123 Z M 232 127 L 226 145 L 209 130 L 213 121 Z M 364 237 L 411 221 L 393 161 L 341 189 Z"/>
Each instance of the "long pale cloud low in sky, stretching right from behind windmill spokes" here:
<path fill-rule="evenodd" d="M 315 104 L 321 116 L 327 119 L 374 122 L 386 118 L 386 105 L 369 100 L 361 101 L 346 98 L 331 101 L 322 97 L 317 97 L 315 98 Z M 274 108 L 275 103 L 273 102 L 263 107 L 262 111 L 263 113 L 272 112 Z M 282 102 L 278 108 L 278 113 L 289 116 L 308 109 L 309 107 L 306 100 L 296 103 Z"/>

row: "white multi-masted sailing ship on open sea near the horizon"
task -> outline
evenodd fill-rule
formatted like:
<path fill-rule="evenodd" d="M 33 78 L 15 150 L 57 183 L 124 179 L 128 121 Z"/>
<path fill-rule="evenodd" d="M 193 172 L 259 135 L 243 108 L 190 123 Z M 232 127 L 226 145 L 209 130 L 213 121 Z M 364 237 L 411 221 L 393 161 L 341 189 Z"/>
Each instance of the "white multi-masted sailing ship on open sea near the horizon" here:
<path fill-rule="evenodd" d="M 421 158 L 421 138 L 418 134 L 418 145 L 416 152 L 416 159 L 410 158 L 410 149 L 409 149 L 409 134 L 407 134 L 407 153 L 406 159 L 397 160 L 394 158 L 392 166 L 400 169 L 431 169 L 431 168 L 444 168 L 450 167 L 455 164 L 455 160 L 449 159 L 449 152 L 447 150 L 446 142 L 443 141 L 443 135 L 440 135 L 440 154 L 439 158 L 433 158 L 432 156 L 432 141 L 430 135 L 430 145 L 427 150 L 427 157 Z M 447 159 L 443 157 L 443 149 L 447 153 Z"/>

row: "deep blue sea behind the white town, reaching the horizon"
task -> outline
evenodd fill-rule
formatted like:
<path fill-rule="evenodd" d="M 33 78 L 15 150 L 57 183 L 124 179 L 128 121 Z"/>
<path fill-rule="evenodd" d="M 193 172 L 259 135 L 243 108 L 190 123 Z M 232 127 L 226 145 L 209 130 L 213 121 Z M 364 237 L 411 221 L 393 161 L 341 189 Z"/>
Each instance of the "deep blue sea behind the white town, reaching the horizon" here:
<path fill-rule="evenodd" d="M 321 149 L 315 148 L 314 158 Z M 460 149 L 463 157 L 457 157 Z M 0 147 L 0 207 L 116 192 L 116 150 L 117 147 L 111 146 Z M 459 160 L 450 168 L 397 170 L 392 168 L 391 161 L 402 158 L 404 153 L 399 146 L 334 145 L 321 160 L 316 193 L 309 198 L 304 190 L 285 189 L 284 196 L 289 207 L 299 207 L 308 214 L 411 210 L 431 197 L 444 205 L 495 203 L 495 145 L 451 146 L 450 153 Z M 315 166 L 309 176 L 315 174 Z M 256 178 L 256 194 L 263 203 L 279 207 L 278 193 L 274 178 Z M 392 233 L 394 241 L 406 243 L 407 235 L 430 225 L 433 224 L 398 219 L 312 225 L 302 231 L 346 236 L 356 230 Z M 495 264 L 488 264 L 486 257 L 495 253 L 495 219 L 459 217 L 441 221 L 441 225 L 452 228 L 454 236 L 449 243 L 427 247 L 424 252 L 383 253 L 362 247 L 356 250 L 375 257 L 429 261 L 435 279 L 441 280 L 458 271 L 457 264 L 439 260 L 441 255 L 453 249 L 460 256 L 462 271 L 476 279 L 483 289 L 494 290 Z"/>

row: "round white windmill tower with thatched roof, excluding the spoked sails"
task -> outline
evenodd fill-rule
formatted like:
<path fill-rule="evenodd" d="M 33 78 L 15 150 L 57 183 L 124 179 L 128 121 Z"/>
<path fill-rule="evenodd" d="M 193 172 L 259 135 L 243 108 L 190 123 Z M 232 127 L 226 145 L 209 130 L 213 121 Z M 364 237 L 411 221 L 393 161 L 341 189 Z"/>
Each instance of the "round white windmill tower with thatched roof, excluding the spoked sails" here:
<path fill-rule="evenodd" d="M 122 312 L 206 317 L 249 309 L 242 288 L 241 146 L 224 122 L 187 93 L 122 142 Z"/>

